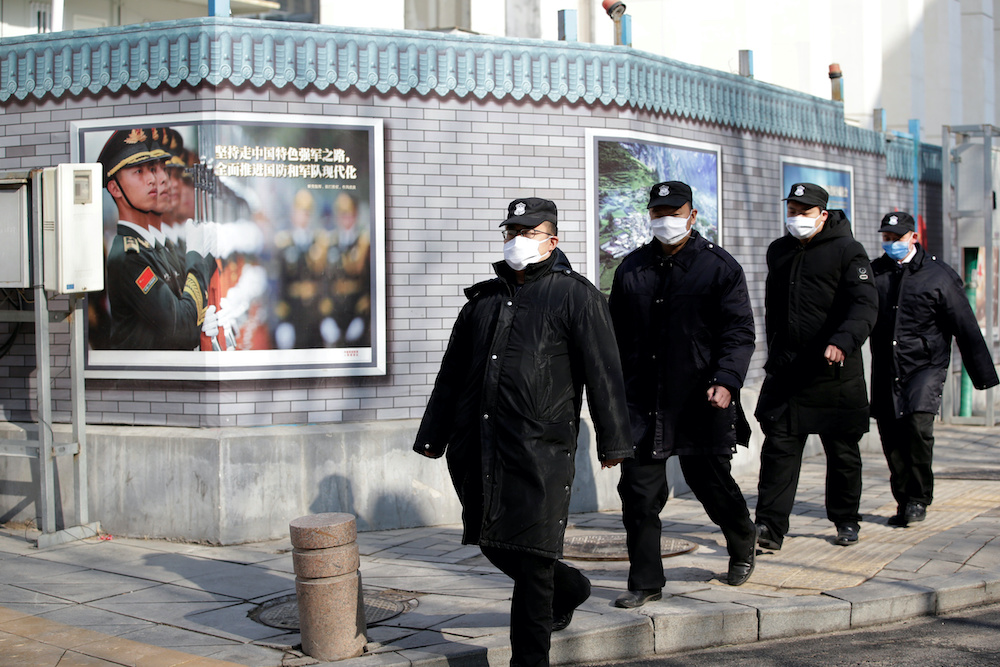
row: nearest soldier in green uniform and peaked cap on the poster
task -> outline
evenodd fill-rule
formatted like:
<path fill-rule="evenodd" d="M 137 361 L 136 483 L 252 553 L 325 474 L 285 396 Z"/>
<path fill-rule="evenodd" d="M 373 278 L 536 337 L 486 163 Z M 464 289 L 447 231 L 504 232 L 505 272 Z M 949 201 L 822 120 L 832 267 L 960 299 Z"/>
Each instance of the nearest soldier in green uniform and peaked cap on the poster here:
<path fill-rule="evenodd" d="M 214 259 L 188 239 L 180 295 L 168 283 L 170 268 L 154 248 L 149 215 L 157 210 L 153 165 L 163 156 L 150 131 L 118 130 L 101 150 L 105 187 L 118 207 L 118 234 L 108 252 L 107 292 L 111 307 L 111 349 L 192 350 L 205 323 L 208 276 Z"/>

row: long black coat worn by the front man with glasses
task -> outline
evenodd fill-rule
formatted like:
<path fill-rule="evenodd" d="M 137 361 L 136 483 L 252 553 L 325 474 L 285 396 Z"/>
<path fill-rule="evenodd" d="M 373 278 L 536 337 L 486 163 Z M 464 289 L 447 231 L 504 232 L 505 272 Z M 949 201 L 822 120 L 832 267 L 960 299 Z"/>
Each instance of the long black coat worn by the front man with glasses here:
<path fill-rule="evenodd" d="M 604 296 L 556 248 L 518 289 L 505 262 L 468 288 L 414 450 L 440 455 L 463 543 L 562 555 L 583 387 L 599 458 L 632 456 L 621 362 Z"/>

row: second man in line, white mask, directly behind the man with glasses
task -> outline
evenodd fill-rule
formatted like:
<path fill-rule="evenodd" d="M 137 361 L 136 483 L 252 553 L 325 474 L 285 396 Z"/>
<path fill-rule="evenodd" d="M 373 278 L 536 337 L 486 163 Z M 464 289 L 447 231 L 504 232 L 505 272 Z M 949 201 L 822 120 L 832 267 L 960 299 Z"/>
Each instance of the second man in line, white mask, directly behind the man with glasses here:
<path fill-rule="evenodd" d="M 619 607 L 661 597 L 659 514 L 675 454 L 726 537 L 728 583 L 739 586 L 754 567 L 756 531 L 730 468 L 737 443 L 750 436 L 739 390 L 754 351 L 753 311 L 742 267 L 692 229 L 692 205 L 686 183 L 652 187 L 655 238 L 622 261 L 611 288 L 636 454 L 623 462 L 618 485 L 630 561 Z"/>

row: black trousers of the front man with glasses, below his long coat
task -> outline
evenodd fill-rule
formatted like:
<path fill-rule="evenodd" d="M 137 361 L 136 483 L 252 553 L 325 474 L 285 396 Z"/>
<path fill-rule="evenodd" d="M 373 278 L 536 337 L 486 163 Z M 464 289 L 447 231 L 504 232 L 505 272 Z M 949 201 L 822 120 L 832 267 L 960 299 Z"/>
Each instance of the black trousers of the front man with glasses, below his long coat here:
<path fill-rule="evenodd" d="M 555 558 L 480 546 L 494 566 L 514 580 L 510 602 L 511 667 L 548 667 L 552 616 L 587 599 L 590 582 Z"/>

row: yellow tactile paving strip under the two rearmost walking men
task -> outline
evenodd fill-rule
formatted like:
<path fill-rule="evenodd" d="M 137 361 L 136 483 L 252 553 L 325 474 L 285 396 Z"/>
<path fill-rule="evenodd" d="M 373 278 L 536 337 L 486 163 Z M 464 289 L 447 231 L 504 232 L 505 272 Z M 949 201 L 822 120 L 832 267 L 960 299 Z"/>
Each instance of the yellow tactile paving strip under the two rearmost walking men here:
<path fill-rule="evenodd" d="M 833 535 L 828 527 L 811 535 L 796 533 L 793 526 L 780 551 L 758 556 L 753 577 L 744 589 L 771 588 L 809 595 L 857 586 L 913 545 L 1000 506 L 1000 483 L 938 480 L 934 496 L 925 521 L 905 529 L 866 521 L 861 540 L 851 547 L 831 548 Z M 876 514 L 888 517 L 895 510 L 893 502 Z"/>

